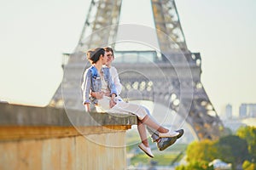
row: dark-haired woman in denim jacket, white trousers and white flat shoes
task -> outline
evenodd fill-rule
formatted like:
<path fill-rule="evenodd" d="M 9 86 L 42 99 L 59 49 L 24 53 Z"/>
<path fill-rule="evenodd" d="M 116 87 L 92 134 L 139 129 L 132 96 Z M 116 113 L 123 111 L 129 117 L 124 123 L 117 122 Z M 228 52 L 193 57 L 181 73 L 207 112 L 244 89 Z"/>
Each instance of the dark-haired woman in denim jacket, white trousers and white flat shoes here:
<path fill-rule="evenodd" d="M 90 103 L 96 108 L 106 112 L 132 113 L 137 116 L 137 129 L 142 143 L 139 148 L 148 156 L 154 157 L 148 145 L 146 128 L 144 125 L 153 128 L 159 133 L 160 138 L 176 137 L 177 132 L 171 132 L 166 127 L 161 127 L 154 122 L 147 114 L 142 105 L 125 103 L 117 97 L 117 91 L 113 84 L 108 67 L 102 67 L 108 60 L 104 48 L 95 48 L 87 52 L 92 66 L 84 72 L 84 82 L 82 84 L 85 110 L 90 111 Z M 94 95 L 90 95 L 94 94 Z"/>

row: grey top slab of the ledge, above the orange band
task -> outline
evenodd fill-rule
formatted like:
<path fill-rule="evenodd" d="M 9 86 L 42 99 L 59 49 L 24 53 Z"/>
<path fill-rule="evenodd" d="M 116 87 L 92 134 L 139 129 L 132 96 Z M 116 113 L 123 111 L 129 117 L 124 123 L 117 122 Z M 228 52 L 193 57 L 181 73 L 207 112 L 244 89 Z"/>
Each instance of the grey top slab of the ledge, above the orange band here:
<path fill-rule="evenodd" d="M 108 126 L 134 125 L 137 116 L 117 113 L 88 113 L 53 107 L 0 103 L 0 126 Z"/>

